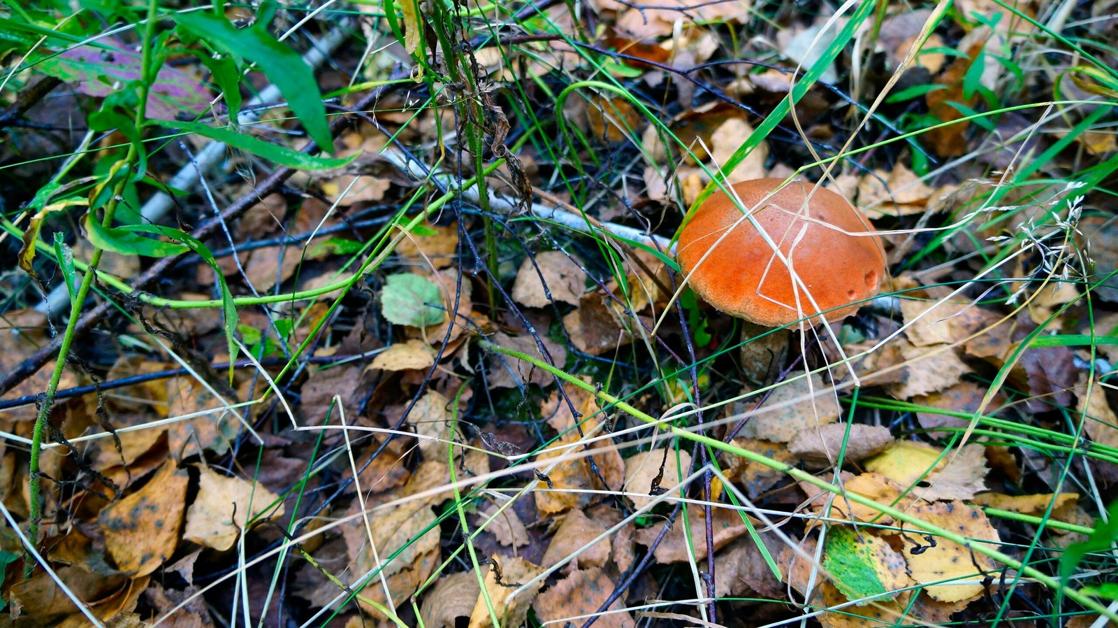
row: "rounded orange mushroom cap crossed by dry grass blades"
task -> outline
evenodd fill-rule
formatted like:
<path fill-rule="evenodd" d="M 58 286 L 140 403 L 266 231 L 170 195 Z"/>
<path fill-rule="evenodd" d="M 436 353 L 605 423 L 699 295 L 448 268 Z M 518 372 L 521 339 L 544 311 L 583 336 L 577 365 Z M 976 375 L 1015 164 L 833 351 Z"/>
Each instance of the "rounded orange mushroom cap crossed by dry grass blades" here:
<path fill-rule="evenodd" d="M 878 293 L 885 273 L 881 238 L 842 196 L 803 180 L 783 182 L 755 179 L 733 190 L 799 281 L 719 190 L 680 232 L 676 257 L 688 284 L 714 308 L 765 327 L 808 317 L 817 325 L 819 312 L 841 320 Z"/>

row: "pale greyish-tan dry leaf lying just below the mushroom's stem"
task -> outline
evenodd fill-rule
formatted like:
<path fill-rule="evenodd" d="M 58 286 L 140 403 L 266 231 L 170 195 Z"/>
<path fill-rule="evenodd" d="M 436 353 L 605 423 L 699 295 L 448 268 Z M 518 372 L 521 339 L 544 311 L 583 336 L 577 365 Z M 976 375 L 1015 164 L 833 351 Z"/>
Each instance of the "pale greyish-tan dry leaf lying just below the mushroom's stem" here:
<path fill-rule="evenodd" d="M 747 439 L 788 442 L 796 433 L 834 423 L 841 410 L 834 390 L 817 373 L 777 386 L 741 429 Z"/>

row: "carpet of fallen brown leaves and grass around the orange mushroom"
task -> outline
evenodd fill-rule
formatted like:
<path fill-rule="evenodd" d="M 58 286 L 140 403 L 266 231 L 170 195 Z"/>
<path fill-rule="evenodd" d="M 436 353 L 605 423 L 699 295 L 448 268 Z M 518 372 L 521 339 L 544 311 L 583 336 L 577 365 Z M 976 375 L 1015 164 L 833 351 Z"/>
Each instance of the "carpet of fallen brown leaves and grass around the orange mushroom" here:
<path fill-rule="evenodd" d="M 420 79 L 451 72 L 442 60 L 429 64 L 428 55 L 447 44 L 430 39 L 447 35 L 436 32 L 437 8 L 406 4 L 396 26 L 368 19 L 362 8 L 370 40 L 401 37 L 382 55 L 399 67 L 385 59 L 357 64 L 362 74 L 352 78 L 390 85 L 408 72 Z M 600 28 L 577 43 L 540 34 L 475 48 L 449 34 L 455 54 L 470 62 L 463 66 L 480 74 L 457 83 L 439 76 L 446 95 L 426 104 L 418 104 L 421 91 L 404 96 L 386 88 L 377 111 L 338 138 L 339 154 L 357 156 L 350 166 L 300 174 L 294 187 L 273 188 L 224 225 L 227 241 L 207 244 L 234 249 L 218 255 L 219 275 L 196 260 L 155 289 L 201 301 L 224 276 L 237 296 L 257 299 L 238 308 L 236 331 L 255 364 L 241 364 L 231 378 L 219 373 L 228 349 L 216 309 L 127 301 L 122 310 L 134 320 L 106 319 L 82 340 L 58 387 L 93 390 L 56 402 L 39 463 L 46 496 L 37 546 L 50 571 L 26 562 L 10 529 L 0 534 L 7 565 L 0 599 L 13 625 L 87 625 L 63 585 L 108 626 L 271 626 L 283 618 L 484 628 L 594 618 L 629 627 L 683 618 L 722 625 L 731 617 L 759 625 L 815 611 L 813 621 L 828 628 L 986 620 L 997 611 L 995 596 L 1005 593 L 998 579 L 1015 575 L 986 550 L 1023 559 L 1031 535 L 1042 553 L 1082 542 L 1100 503 L 1090 493 L 1118 481 L 1114 352 L 1072 341 L 1114 336 L 1112 290 L 1067 284 L 1106 281 L 1112 270 L 1107 205 L 1089 197 L 1098 215 L 1087 216 L 1082 229 L 1068 218 L 1069 242 L 1093 255 L 1081 276 L 1061 276 L 1051 265 L 1057 245 L 1029 250 L 1032 257 L 1011 255 L 1020 259 L 996 282 L 968 283 L 984 270 L 976 260 L 994 252 L 988 243 L 1004 233 L 1031 242 L 1029 229 L 1048 206 L 1059 214 L 1068 205 L 1016 191 L 997 197 L 996 207 L 983 205 L 995 198 L 1002 175 L 1021 167 L 1013 153 L 1036 146 L 1016 137 L 1032 129 L 1024 114 L 1003 115 L 989 133 L 983 118 L 963 121 L 992 106 L 993 95 L 1013 92 L 1006 85 L 1016 62 L 1005 55 L 1039 36 L 1029 20 L 995 4 L 961 3 L 922 44 L 932 11 L 885 7 L 864 67 L 849 44 L 819 62 L 837 37 L 828 16 L 789 8 L 761 20 L 764 7 L 742 1 L 593 2 Z M 560 7 L 547 15 L 568 30 L 581 26 L 581 17 Z M 249 28 L 256 27 L 241 30 Z M 748 36 L 731 45 L 740 35 Z M 116 39 L 107 41 L 123 54 Z M 738 45 L 741 54 L 731 50 Z M 664 244 L 712 174 L 755 140 L 722 172 L 730 182 L 790 176 L 815 153 L 833 154 L 850 135 L 842 116 L 831 114 L 882 87 L 918 45 L 923 49 L 892 91 L 911 92 L 908 109 L 858 116 L 866 114 L 882 133 L 896 124 L 955 123 L 925 129 L 896 151 L 836 162 L 827 184 L 882 229 L 897 273 L 883 280 L 889 294 L 834 321 L 833 334 L 759 337 L 681 291 Z M 218 65 L 181 54 L 161 59 L 153 74 L 150 118 L 209 110 L 210 86 L 226 88 Z M 74 83 L 91 111 L 107 102 L 120 114 L 126 107 L 113 105 L 116 87 L 101 76 L 85 79 L 101 55 L 77 47 L 32 72 Z M 344 65 L 360 57 L 353 50 L 340 58 Z M 755 57 L 776 64 L 742 62 Z M 521 128 L 518 104 L 493 95 L 498 82 L 525 76 L 570 84 L 590 59 L 593 76 L 622 82 L 626 95 L 580 90 L 563 110 L 537 112 L 569 126 Z M 809 86 L 776 131 L 755 138 L 805 78 L 792 72 L 797 65 L 830 85 Z M 129 60 L 106 76 L 138 73 Z M 342 74 L 326 72 L 323 82 L 342 86 L 351 78 Z M 1087 82 L 1084 72 L 1073 72 L 1070 83 L 1032 74 L 1034 90 L 1110 88 Z M 541 93 L 531 97 L 555 100 Z M 342 94 L 332 104 L 354 102 Z M 285 114 L 265 113 L 265 122 L 253 132 L 273 146 L 297 149 L 305 141 Z M 323 124 L 307 128 L 321 139 Z M 519 140 L 510 138 L 544 126 L 567 152 L 544 152 L 533 141 L 513 151 Z M 1114 152 L 1105 132 L 1071 137 L 1061 126 L 1038 134 L 1043 146 L 1073 141 L 1089 160 Z M 121 157 L 110 143 L 97 149 L 106 163 Z M 9 157 L 11 149 L 3 150 Z M 454 170 L 444 161 L 452 153 L 468 159 Z M 928 166 L 969 153 L 976 158 L 956 171 Z M 244 177 L 214 181 L 221 203 L 255 194 L 248 175 L 258 157 L 237 158 Z M 498 158 L 499 168 L 477 171 Z M 600 170 L 586 171 L 591 163 Z M 1040 165 L 1038 177 L 1072 168 L 1060 154 Z M 459 184 L 473 175 L 484 196 L 439 199 L 447 182 L 467 189 Z M 426 196 L 415 196 L 419 190 Z M 509 190 L 524 198 L 505 198 Z M 179 199 L 181 221 L 200 222 L 215 209 L 196 200 Z M 664 240 L 580 235 L 579 227 L 534 219 L 532 200 L 577 208 L 584 215 L 575 222 L 586 225 L 614 221 Z M 417 216 L 428 204 L 439 209 Z M 399 207 L 408 209 L 396 215 Z M 1010 218 L 994 219 L 999 215 Z M 967 216 L 992 219 L 970 232 L 948 226 Z M 405 228 L 411 218 L 419 219 Z M 395 250 L 381 249 L 391 237 Z M 80 238 L 73 250 L 89 255 Z M 366 259 L 377 263 L 344 291 L 305 302 L 260 298 L 334 285 Z M 113 255 L 102 271 L 127 280 L 144 268 Z M 1058 281 L 1039 287 L 1045 275 L 1036 269 Z M 59 327 L 57 317 L 48 322 L 30 307 L 34 290 L 7 275 L 2 281 L 6 298 L 12 296 L 6 303 L 20 303 L 0 311 L 7 373 Z M 1021 308 L 1018 293 L 1027 296 Z M 1092 293 L 1098 300 L 1087 304 Z M 572 373 L 589 390 L 484 343 Z M 0 503 L 25 523 L 34 395 L 47 390 L 53 368 L 47 362 L 32 369 L 3 395 L 30 397 L 0 414 Z M 593 390 L 770 462 L 694 448 Z M 1059 458 L 1069 450 L 1076 465 Z M 789 469 L 816 481 L 795 481 Z M 965 542 L 926 534 L 911 519 Z M 1029 583 L 1018 598 L 1048 603 L 1050 591 Z M 719 599 L 705 604 L 673 596 Z M 1011 598 L 1002 600 L 1008 617 L 1032 612 Z"/>

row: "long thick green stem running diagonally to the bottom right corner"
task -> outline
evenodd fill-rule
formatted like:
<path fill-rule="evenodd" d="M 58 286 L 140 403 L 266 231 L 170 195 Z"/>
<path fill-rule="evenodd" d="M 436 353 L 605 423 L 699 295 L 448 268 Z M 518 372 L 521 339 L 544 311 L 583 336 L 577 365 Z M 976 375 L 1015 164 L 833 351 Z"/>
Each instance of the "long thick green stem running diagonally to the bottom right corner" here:
<path fill-rule="evenodd" d="M 826 490 L 828 493 L 833 493 L 835 495 L 841 495 L 841 496 L 843 496 L 843 498 L 849 499 L 849 500 L 851 500 L 851 502 L 853 502 L 855 504 L 860 504 L 862 506 L 868 506 L 870 508 L 873 508 L 874 510 L 878 510 L 879 513 L 881 513 L 883 515 L 889 515 L 890 517 L 893 517 L 897 521 L 904 522 L 906 524 L 915 526 L 915 527 L 918 527 L 918 528 L 920 528 L 920 529 L 922 529 L 922 531 L 925 531 L 925 532 L 927 532 L 929 534 L 934 534 L 936 536 L 940 536 L 940 537 L 946 538 L 948 541 L 951 541 L 954 543 L 958 543 L 959 545 L 963 545 L 964 547 L 973 550 L 974 552 L 977 552 L 979 554 L 983 554 L 984 556 L 987 556 L 987 557 L 989 557 L 992 560 L 995 560 L 995 561 L 997 561 L 997 562 L 999 562 L 1002 564 L 1005 564 L 1005 565 L 1010 566 L 1011 569 L 1018 570 L 1023 575 L 1032 578 L 1033 580 L 1040 582 L 1041 584 L 1044 584 L 1045 587 L 1048 587 L 1050 589 L 1053 589 L 1053 590 L 1057 590 L 1057 591 L 1062 591 L 1065 596 L 1068 596 L 1068 598 L 1074 600 L 1076 602 L 1082 604 L 1083 607 L 1089 608 L 1089 609 L 1091 609 L 1091 610 L 1093 610 L 1096 612 L 1099 612 L 1099 613 L 1101 613 L 1101 615 L 1110 618 L 1111 620 L 1118 621 L 1118 612 L 1109 610 L 1106 606 L 1099 603 L 1098 600 L 1096 600 L 1096 599 L 1093 599 L 1093 598 L 1091 598 L 1089 596 L 1086 596 L 1083 593 L 1080 593 L 1077 590 L 1072 590 L 1072 589 L 1070 589 L 1069 587 L 1067 587 L 1064 584 L 1061 584 L 1059 580 L 1057 580 L 1057 579 L 1054 579 L 1054 578 L 1052 578 L 1052 577 L 1043 573 L 1043 572 L 1036 570 L 1035 568 L 1022 564 L 1021 561 L 1017 561 L 1017 560 L 1015 560 L 1014 557 L 1012 557 L 1010 555 L 1006 555 L 1006 554 L 1004 554 L 1004 553 L 1002 553 L 1002 552 L 999 552 L 997 550 L 994 550 L 992 547 L 987 547 L 986 545 L 983 545 L 980 543 L 974 543 L 970 540 L 968 540 L 967 537 L 963 536 L 961 534 L 957 534 L 955 532 L 951 532 L 949 529 L 945 529 L 945 528 L 939 527 L 937 525 L 929 524 L 927 522 L 923 522 L 923 521 L 921 521 L 921 519 L 912 516 L 911 514 L 909 514 L 909 513 L 907 513 L 904 510 L 899 510 L 899 509 L 893 508 L 891 506 L 887 506 L 884 504 L 880 504 L 878 502 L 874 502 L 873 499 L 870 499 L 868 497 L 863 497 L 861 495 L 858 495 L 856 493 L 843 493 L 842 488 L 840 488 L 837 486 L 834 486 L 834 485 L 832 485 L 832 484 L 830 484 L 827 481 L 824 481 L 824 480 L 822 480 L 822 479 L 813 476 L 812 474 L 808 474 L 807 471 L 804 471 L 802 469 L 797 469 L 796 467 L 793 467 L 792 465 L 786 465 L 784 462 L 774 460 L 771 458 L 768 458 L 766 456 L 757 453 L 756 451 L 749 451 L 748 449 L 742 449 L 740 447 L 722 442 L 722 441 L 720 441 L 718 439 L 712 439 L 712 438 L 710 438 L 708 435 L 704 435 L 704 434 L 695 434 L 695 433 L 689 432 L 689 431 L 686 431 L 686 430 L 684 430 L 682 428 L 676 428 L 674 425 L 664 424 L 663 422 L 656 420 L 655 418 L 651 416 L 650 414 L 647 414 L 645 412 L 642 412 L 642 411 L 637 410 L 636 407 L 633 407 L 632 405 L 629 405 L 629 404 L 620 401 L 619 399 L 617 399 L 617 397 L 615 397 L 615 396 L 613 396 L 613 395 L 610 395 L 608 393 L 605 393 L 605 392 L 598 390 L 593 383 L 584 382 L 582 379 L 579 379 L 578 377 L 575 377 L 574 375 L 569 375 L 569 374 L 562 372 L 561 369 L 556 368 L 555 366 L 551 366 L 550 364 L 547 364 L 543 360 L 534 358 L 534 357 L 532 357 L 532 356 L 530 356 L 528 354 L 523 354 L 521 352 L 517 352 L 517 350 L 513 350 L 513 349 L 506 349 L 506 348 L 501 347 L 499 345 L 494 345 L 493 343 L 491 343 L 489 340 L 481 340 L 479 343 L 479 345 L 483 349 L 487 349 L 487 350 L 491 350 L 491 352 L 503 354 L 503 355 L 506 355 L 509 357 L 514 357 L 517 359 L 520 359 L 520 360 L 527 362 L 529 364 L 532 364 L 537 368 L 541 368 L 543 371 L 547 371 L 551 375 L 555 375 L 556 377 L 559 377 L 560 379 L 562 379 L 563 382 L 567 382 L 568 384 L 571 384 L 572 386 L 578 386 L 579 388 L 582 388 L 584 391 L 586 391 L 586 392 L 595 395 L 596 397 L 598 397 L 599 400 L 606 402 L 607 404 L 617 407 L 622 412 L 625 412 L 627 414 L 632 414 L 633 416 L 635 416 L 635 418 L 637 418 L 641 421 L 644 421 L 646 423 L 651 423 L 653 425 L 657 425 L 661 430 L 663 430 L 665 432 L 669 432 L 669 433 L 671 433 L 671 434 L 673 434 L 675 437 L 688 439 L 688 440 L 691 440 L 691 441 L 695 441 L 695 442 L 699 442 L 699 443 L 704 444 L 707 447 L 711 447 L 713 449 L 726 451 L 727 453 L 731 453 L 733 456 L 739 456 L 739 457 L 745 458 L 746 460 L 749 460 L 751 462 L 757 462 L 759 465 L 764 465 L 764 466 L 766 466 L 766 467 L 768 467 L 770 469 L 774 469 L 774 470 L 787 474 L 787 475 L 792 476 L 794 479 L 796 479 L 798 481 L 803 481 L 803 482 L 809 484 L 809 485 L 812 485 L 812 486 L 814 486 L 816 488 L 821 488 L 823 490 Z"/>

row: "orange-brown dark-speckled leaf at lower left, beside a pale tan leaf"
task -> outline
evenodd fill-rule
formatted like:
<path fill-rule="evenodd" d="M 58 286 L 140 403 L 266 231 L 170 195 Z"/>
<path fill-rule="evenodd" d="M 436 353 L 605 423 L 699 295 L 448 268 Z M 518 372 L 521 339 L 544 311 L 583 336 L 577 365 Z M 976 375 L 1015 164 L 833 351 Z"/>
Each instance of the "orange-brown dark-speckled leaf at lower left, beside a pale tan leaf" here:
<path fill-rule="evenodd" d="M 174 553 L 189 481 L 186 469 L 168 460 L 143 488 L 101 512 L 97 523 L 117 568 L 148 575 Z"/>

